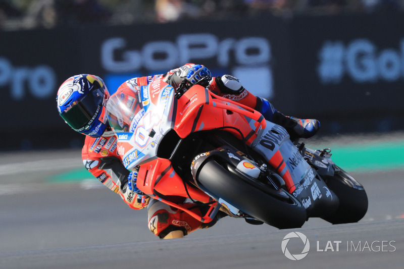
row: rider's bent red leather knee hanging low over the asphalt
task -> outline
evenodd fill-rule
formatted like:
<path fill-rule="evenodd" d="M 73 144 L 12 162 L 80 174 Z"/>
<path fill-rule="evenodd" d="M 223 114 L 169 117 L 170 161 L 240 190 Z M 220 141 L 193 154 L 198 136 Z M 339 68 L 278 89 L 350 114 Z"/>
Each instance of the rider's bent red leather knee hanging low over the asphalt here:
<path fill-rule="evenodd" d="M 184 207 L 197 212 L 194 203 L 184 203 Z M 200 211 L 200 210 L 199 210 Z M 162 239 L 181 238 L 201 228 L 203 223 L 192 218 L 186 212 L 153 199 L 148 205 L 148 228 Z"/>

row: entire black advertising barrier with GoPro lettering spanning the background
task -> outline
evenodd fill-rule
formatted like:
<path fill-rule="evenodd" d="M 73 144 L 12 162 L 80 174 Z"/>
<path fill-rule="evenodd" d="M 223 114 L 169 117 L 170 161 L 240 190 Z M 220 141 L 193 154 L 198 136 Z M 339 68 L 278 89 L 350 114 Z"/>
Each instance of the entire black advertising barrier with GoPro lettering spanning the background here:
<path fill-rule="evenodd" d="M 319 118 L 323 134 L 404 128 L 403 23 L 402 16 L 269 17 L 0 32 L 1 137 L 12 141 L 0 150 L 82 143 L 56 109 L 59 85 L 74 74 L 99 75 L 114 92 L 130 77 L 187 62 L 237 76 L 285 114 Z M 358 125 L 365 116 L 381 127 Z"/>

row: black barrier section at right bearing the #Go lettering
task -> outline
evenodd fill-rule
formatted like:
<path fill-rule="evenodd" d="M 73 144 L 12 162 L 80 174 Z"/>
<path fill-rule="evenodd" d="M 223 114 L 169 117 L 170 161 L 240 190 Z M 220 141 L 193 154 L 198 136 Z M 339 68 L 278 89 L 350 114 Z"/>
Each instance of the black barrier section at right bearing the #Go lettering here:
<path fill-rule="evenodd" d="M 293 112 L 329 132 L 404 128 L 403 14 L 295 17 L 290 29 Z"/>

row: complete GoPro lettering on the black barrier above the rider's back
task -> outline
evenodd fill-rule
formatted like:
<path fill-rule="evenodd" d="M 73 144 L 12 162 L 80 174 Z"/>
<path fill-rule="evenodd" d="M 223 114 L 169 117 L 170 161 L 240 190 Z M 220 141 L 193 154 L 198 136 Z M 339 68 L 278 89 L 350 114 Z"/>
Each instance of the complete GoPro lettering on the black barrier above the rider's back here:
<path fill-rule="evenodd" d="M 263 37 L 244 37 L 239 40 L 219 41 L 213 34 L 183 34 L 176 42 L 162 40 L 147 42 L 141 50 L 130 50 L 126 40 L 114 37 L 101 46 L 101 63 L 109 72 L 133 72 L 144 67 L 148 70 L 165 70 L 181 66 L 192 60 L 217 57 L 219 66 L 228 66 L 229 53 L 234 50 L 237 65 L 268 64 L 271 60 L 269 41 Z M 117 52 L 122 55 L 116 58 Z"/>

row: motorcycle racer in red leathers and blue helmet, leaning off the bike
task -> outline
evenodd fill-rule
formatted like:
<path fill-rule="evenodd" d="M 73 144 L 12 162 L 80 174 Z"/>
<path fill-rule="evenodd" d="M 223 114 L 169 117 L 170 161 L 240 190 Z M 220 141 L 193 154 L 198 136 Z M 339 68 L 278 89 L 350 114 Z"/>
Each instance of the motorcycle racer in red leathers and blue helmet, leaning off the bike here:
<path fill-rule="evenodd" d="M 247 91 L 236 78 L 229 75 L 212 78 L 210 71 L 202 65 L 186 64 L 162 75 L 133 78 L 124 82 L 115 94 L 121 94 L 127 89 L 134 92 L 137 86 L 148 85 L 158 79 L 176 90 L 181 85 L 189 87 L 196 83 L 209 86 L 219 96 L 247 105 L 259 111 L 267 120 L 285 127 L 291 137 L 311 137 L 320 126 L 317 120 L 284 116 L 268 100 Z M 189 214 L 158 200 L 150 200 L 136 188 L 136 172 L 130 174 L 123 166 L 117 149 L 117 138 L 107 121 L 106 103 L 109 98 L 103 80 L 88 74 L 67 79 L 58 90 L 60 116 L 75 131 L 86 135 L 82 159 L 87 170 L 109 189 L 120 194 L 131 208 L 147 206 L 148 227 L 160 238 L 182 237 L 198 228 L 206 228 L 206 225 Z M 179 202 L 190 210 L 204 210 L 194 203 Z M 210 223 L 209 227 L 214 223 Z"/>

